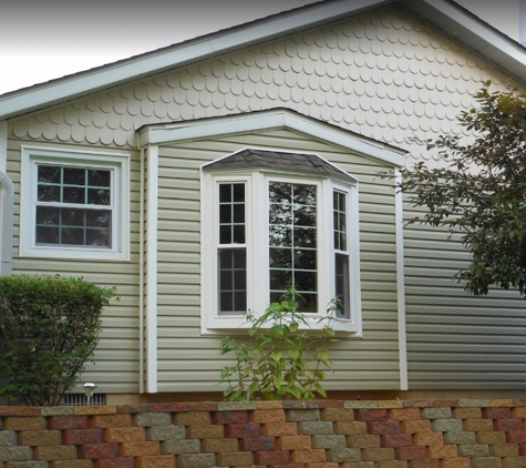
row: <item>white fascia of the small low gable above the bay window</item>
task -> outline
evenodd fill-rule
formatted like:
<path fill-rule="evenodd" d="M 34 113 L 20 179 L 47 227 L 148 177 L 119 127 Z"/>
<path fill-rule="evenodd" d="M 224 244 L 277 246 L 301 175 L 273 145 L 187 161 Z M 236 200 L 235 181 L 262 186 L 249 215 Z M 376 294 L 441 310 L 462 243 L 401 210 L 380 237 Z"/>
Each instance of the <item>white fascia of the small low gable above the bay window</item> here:
<path fill-rule="evenodd" d="M 203 122 L 148 126 L 141 132 L 140 144 L 141 146 L 146 146 L 148 144 L 197 140 L 209 136 L 248 133 L 271 129 L 295 130 L 393 166 L 402 167 L 404 165 L 405 152 L 402 150 L 398 152 L 388 149 L 380 143 L 375 145 L 357 135 L 350 134 L 345 130 L 333 129 L 329 125 L 290 114 L 287 111 L 268 112 L 265 114 L 243 114 L 234 118 L 218 118 L 215 121 L 207 119 Z"/>

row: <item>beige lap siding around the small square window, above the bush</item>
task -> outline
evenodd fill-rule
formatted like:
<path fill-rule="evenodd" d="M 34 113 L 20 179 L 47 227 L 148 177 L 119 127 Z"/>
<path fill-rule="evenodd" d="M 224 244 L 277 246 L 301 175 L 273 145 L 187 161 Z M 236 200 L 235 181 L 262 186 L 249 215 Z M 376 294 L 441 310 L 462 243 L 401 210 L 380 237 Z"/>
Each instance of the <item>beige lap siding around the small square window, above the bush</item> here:
<path fill-rule="evenodd" d="M 121 301 L 113 301 L 103 313 L 101 339 L 95 350 L 95 364 L 86 364 L 82 381 L 95 381 L 101 393 L 138 391 L 138 224 L 140 224 L 140 156 L 132 154 L 131 162 L 131 262 L 93 262 L 89 260 L 49 260 L 19 257 L 20 226 L 20 155 L 21 145 L 39 145 L 33 141 L 9 141 L 8 174 L 14 182 L 14 274 L 60 274 L 83 277 L 101 286 L 116 286 Z M 48 144 L 50 149 L 64 147 Z M 85 146 L 68 146 L 82 150 Z M 85 147 L 93 150 L 93 147 Z M 114 147 L 100 147 L 114 151 Z M 78 387 L 73 391 L 82 391 Z"/>

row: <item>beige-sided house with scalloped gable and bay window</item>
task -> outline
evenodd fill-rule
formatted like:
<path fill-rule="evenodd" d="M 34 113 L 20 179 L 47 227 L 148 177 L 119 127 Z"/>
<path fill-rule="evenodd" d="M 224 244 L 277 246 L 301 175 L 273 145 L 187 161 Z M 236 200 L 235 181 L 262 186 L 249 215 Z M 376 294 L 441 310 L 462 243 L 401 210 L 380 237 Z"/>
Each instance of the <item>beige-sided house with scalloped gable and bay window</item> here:
<path fill-rule="evenodd" d="M 328 389 L 510 395 L 522 299 L 466 296 L 378 177 L 436 164 L 410 139 L 485 80 L 526 51 L 453 1 L 330 0 L 4 94 L 4 271 L 117 286 L 82 376 L 109 396 L 218 391 L 220 337 L 291 281 L 313 318 L 343 299 Z"/>

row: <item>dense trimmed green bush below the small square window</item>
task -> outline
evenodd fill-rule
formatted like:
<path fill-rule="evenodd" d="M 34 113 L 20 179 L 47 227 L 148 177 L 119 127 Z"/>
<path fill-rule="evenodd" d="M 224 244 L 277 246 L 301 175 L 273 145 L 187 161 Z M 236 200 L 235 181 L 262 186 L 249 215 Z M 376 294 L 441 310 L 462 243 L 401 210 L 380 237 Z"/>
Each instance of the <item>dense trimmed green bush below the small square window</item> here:
<path fill-rule="evenodd" d="M 101 314 L 115 288 L 82 278 L 0 277 L 0 395 L 55 406 L 99 342 Z"/>

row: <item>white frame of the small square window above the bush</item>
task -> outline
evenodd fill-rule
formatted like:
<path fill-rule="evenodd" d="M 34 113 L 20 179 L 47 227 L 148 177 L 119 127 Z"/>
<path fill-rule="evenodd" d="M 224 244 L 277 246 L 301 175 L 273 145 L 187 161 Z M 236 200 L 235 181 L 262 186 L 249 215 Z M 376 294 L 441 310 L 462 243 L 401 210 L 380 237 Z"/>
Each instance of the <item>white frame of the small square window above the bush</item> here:
<path fill-rule="evenodd" d="M 21 257 L 130 261 L 130 154 L 73 149 L 22 146 L 20 189 Z M 78 245 L 37 245 L 39 164 L 101 169 L 112 176 L 112 242 L 110 248 Z"/>

